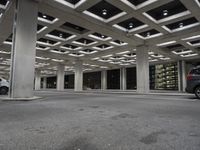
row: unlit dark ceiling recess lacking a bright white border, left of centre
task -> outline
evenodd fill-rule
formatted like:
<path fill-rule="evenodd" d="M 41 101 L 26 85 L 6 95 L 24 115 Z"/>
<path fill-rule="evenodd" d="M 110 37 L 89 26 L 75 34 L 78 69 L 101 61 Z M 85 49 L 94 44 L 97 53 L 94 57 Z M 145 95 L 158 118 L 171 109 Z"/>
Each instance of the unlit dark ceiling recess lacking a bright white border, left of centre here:
<path fill-rule="evenodd" d="M 65 30 L 69 30 L 69 31 L 72 31 L 72 32 L 75 32 L 75 33 L 79 33 L 79 34 L 84 34 L 86 32 L 88 32 L 89 30 L 84 28 L 84 27 L 81 27 L 79 25 L 75 25 L 75 24 L 72 24 L 70 22 L 65 22 L 62 26 L 61 26 L 62 29 L 65 29 Z"/>

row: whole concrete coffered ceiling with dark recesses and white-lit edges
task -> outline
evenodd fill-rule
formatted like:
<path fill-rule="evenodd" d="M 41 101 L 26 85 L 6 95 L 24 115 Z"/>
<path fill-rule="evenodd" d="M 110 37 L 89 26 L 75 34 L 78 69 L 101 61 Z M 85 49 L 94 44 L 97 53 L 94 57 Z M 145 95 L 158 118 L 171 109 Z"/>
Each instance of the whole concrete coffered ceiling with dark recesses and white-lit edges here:
<path fill-rule="evenodd" d="M 9 72 L 13 1 L 0 1 L 1 72 Z M 200 59 L 199 0 L 48 0 L 38 12 L 36 68 L 55 73 L 59 63 L 73 71 L 130 67 L 137 46 L 147 45 L 149 62 Z"/>

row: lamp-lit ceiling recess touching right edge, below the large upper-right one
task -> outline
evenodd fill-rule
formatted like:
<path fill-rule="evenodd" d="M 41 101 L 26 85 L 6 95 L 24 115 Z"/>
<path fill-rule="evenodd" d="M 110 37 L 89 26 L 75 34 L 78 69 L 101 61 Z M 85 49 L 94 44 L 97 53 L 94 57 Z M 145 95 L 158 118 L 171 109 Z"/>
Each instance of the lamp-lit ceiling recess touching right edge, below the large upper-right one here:
<path fill-rule="evenodd" d="M 191 28 L 191 27 L 194 27 L 194 26 L 197 26 L 197 25 L 199 25 L 198 20 L 196 18 L 192 17 L 192 18 L 189 18 L 189 19 L 185 19 L 185 20 L 182 20 L 182 21 L 178 21 L 178 22 L 175 22 L 175 23 L 168 24 L 168 25 L 164 26 L 164 28 L 167 29 L 170 32 L 176 32 L 176 31 L 188 29 L 188 28 Z"/>

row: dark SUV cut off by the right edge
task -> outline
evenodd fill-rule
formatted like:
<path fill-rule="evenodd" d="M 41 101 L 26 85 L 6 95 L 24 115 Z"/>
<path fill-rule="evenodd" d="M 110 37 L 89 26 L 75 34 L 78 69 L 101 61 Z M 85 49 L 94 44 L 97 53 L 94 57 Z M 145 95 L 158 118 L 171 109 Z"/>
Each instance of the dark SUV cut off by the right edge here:
<path fill-rule="evenodd" d="M 186 92 L 195 93 L 200 99 L 200 66 L 193 68 L 187 75 Z"/>

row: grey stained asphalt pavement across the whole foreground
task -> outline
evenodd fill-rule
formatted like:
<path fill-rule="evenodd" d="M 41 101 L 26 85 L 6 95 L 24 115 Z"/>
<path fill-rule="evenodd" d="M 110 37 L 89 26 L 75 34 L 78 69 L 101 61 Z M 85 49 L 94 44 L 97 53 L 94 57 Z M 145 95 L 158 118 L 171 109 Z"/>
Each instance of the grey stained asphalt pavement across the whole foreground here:
<path fill-rule="evenodd" d="M 193 95 L 35 94 L 0 100 L 0 150 L 200 150 Z"/>

